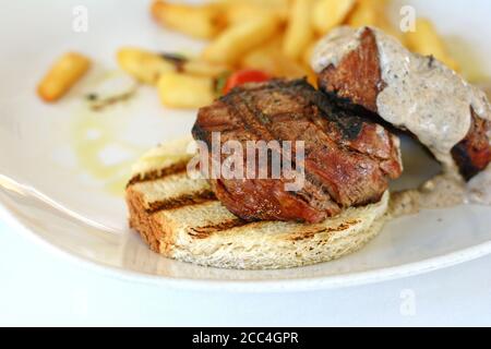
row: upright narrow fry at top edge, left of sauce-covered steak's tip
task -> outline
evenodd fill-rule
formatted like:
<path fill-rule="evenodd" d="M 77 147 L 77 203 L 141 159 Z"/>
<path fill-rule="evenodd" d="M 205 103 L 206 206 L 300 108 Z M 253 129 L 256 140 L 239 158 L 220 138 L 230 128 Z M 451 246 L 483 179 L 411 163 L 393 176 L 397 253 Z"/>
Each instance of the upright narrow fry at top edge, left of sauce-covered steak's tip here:
<path fill-rule="evenodd" d="M 283 41 L 283 52 L 290 59 L 299 59 L 313 37 L 313 0 L 294 0 L 287 29 Z"/>

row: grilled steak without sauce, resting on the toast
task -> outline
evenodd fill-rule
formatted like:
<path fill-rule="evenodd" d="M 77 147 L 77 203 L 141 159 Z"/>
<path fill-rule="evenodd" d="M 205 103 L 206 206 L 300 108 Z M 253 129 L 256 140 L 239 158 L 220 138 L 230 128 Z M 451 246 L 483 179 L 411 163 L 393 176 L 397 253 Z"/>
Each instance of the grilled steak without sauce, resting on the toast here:
<path fill-rule="evenodd" d="M 362 113 L 335 106 L 304 80 L 232 89 L 199 111 L 194 139 L 211 148 L 213 132 L 220 132 L 221 144 L 239 141 L 244 149 L 248 141 L 304 142 L 304 185 L 298 191 L 286 190 L 288 179 L 283 176 L 211 179 L 218 200 L 246 220 L 318 222 L 345 207 L 379 201 L 388 180 L 402 173 L 396 136 Z M 268 164 L 273 153 L 282 151 L 273 147 Z"/>

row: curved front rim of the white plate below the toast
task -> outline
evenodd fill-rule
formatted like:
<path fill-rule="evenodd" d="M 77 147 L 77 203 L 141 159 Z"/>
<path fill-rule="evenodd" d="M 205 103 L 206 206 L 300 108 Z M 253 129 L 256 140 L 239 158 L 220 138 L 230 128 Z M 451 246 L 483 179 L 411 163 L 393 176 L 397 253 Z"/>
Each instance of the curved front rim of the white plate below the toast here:
<path fill-rule="evenodd" d="M 71 253 L 62 249 L 61 246 L 44 239 L 35 231 L 27 228 L 21 219 L 19 219 L 8 207 L 4 206 L 4 203 L 1 198 L 0 219 L 7 226 L 12 228 L 13 231 L 21 232 L 31 241 L 35 242 L 38 245 L 41 245 L 45 251 L 50 251 L 52 254 L 63 257 L 74 265 L 81 266 L 82 268 L 94 270 L 99 275 L 119 279 L 122 281 L 167 287 L 169 289 L 185 291 L 277 293 L 340 289 L 427 274 L 491 254 L 491 240 L 489 240 L 470 248 L 450 252 L 431 258 L 424 258 L 418 262 L 366 272 L 357 272 L 346 275 L 272 280 L 214 280 L 204 278 L 190 279 L 139 273 L 136 270 L 130 270 L 104 264 L 101 262 L 97 262 L 88 257 Z"/>

